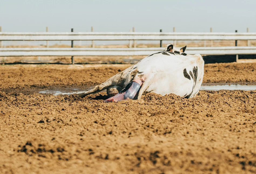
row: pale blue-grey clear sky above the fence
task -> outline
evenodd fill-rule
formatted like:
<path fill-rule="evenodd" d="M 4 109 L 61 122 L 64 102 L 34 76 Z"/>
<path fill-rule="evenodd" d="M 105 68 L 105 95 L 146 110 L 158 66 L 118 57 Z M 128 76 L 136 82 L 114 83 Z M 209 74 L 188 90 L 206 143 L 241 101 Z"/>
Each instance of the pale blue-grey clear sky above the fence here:
<path fill-rule="evenodd" d="M 255 0 L 0 0 L 3 32 L 256 32 Z"/>

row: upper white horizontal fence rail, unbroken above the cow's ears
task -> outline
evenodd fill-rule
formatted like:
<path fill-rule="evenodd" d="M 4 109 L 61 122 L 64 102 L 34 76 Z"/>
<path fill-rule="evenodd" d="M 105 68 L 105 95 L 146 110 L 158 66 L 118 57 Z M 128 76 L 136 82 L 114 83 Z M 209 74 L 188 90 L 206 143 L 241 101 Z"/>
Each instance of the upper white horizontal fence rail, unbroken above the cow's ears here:
<path fill-rule="evenodd" d="M 256 40 L 256 33 L 0 32 L 0 41 L 22 40 Z"/>

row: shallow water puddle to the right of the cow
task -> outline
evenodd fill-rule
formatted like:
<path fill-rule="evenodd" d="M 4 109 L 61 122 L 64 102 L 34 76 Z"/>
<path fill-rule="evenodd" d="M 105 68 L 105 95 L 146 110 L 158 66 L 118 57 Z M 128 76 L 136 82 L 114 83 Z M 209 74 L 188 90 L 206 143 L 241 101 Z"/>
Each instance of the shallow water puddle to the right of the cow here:
<path fill-rule="evenodd" d="M 202 84 L 199 90 L 203 91 L 219 91 L 219 90 L 243 90 L 243 91 L 252 91 L 256 90 L 256 85 L 239 85 L 239 84 L 228 84 L 223 85 L 223 83 L 211 83 Z"/>

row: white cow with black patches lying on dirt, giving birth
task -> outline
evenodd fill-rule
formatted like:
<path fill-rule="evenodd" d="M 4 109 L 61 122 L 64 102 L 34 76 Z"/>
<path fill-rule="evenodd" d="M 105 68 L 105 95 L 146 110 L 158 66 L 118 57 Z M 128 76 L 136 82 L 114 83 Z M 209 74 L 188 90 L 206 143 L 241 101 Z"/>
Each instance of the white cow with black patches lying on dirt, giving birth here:
<path fill-rule="evenodd" d="M 142 94 L 148 92 L 192 98 L 203 81 L 204 60 L 200 54 L 185 54 L 185 50 L 186 46 L 177 50 L 173 45 L 167 45 L 164 51 L 145 57 L 79 96 L 107 89 L 107 95 L 112 97 L 105 102 L 141 99 Z"/>

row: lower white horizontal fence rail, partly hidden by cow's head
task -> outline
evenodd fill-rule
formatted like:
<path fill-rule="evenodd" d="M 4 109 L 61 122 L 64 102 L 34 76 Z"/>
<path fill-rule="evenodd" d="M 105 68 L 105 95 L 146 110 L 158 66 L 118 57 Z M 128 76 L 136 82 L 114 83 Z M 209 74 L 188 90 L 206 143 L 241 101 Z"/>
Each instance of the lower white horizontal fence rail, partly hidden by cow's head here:
<path fill-rule="evenodd" d="M 164 48 L 0 48 L 4 56 L 136 56 L 150 55 Z M 187 54 L 256 54 L 256 47 L 190 47 Z"/>

